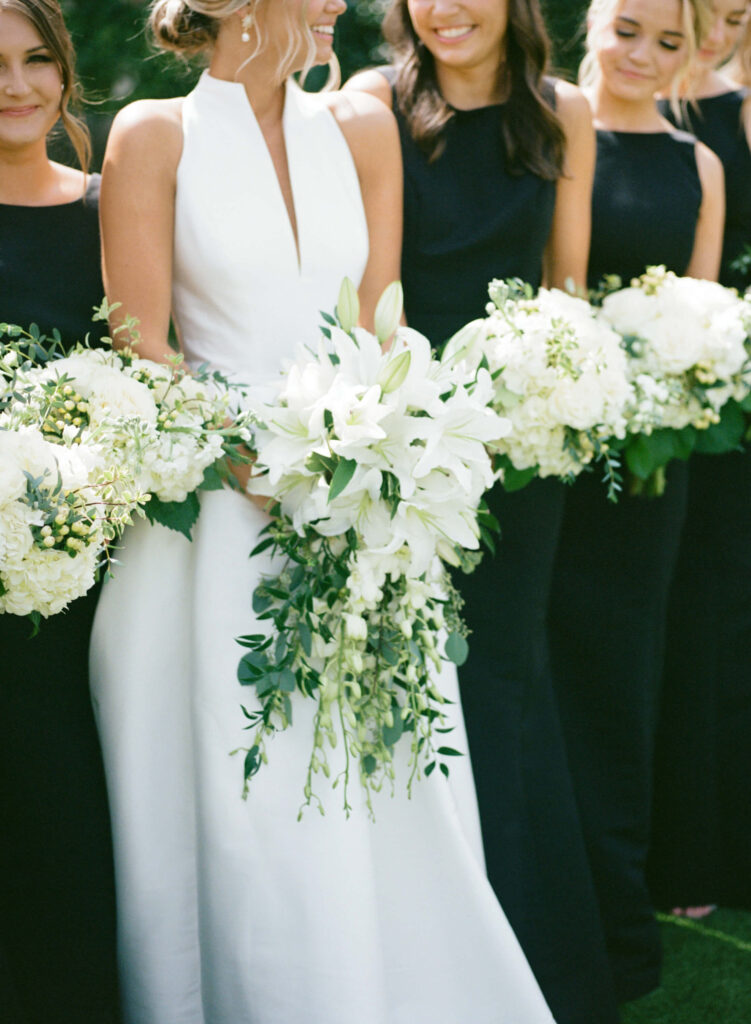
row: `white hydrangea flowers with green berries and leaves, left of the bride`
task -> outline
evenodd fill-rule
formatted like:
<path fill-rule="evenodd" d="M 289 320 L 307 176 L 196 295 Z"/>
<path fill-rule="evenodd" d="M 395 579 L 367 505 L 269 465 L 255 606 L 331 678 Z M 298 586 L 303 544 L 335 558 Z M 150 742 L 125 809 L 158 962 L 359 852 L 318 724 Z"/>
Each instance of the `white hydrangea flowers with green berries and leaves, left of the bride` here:
<path fill-rule="evenodd" d="M 190 536 L 196 488 L 220 486 L 219 460 L 249 435 L 224 427 L 225 382 L 177 357 L 64 356 L 55 339 L 0 329 L 0 611 L 47 616 L 93 586 L 133 513 Z"/>

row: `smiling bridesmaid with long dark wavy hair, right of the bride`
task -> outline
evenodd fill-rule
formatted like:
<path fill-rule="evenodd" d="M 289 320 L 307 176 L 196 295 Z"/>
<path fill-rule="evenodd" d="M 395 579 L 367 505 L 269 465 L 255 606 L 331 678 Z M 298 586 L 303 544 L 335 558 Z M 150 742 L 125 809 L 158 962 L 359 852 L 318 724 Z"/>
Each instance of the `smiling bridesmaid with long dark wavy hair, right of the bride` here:
<path fill-rule="evenodd" d="M 536 0 L 393 0 L 393 109 L 405 164 L 410 326 L 439 345 L 482 316 L 493 278 L 583 285 L 594 162 L 581 93 L 546 77 Z M 598 910 L 550 679 L 545 614 L 564 486 L 491 496 L 503 540 L 458 581 L 460 671 L 488 873 L 558 1024 L 616 1019 Z"/>

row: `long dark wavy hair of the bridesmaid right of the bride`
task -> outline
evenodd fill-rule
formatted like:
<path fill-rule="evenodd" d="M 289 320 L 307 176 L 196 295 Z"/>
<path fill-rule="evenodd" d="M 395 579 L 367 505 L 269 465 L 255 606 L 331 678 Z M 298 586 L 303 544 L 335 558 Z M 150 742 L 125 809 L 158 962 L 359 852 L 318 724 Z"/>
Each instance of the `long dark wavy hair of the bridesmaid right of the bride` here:
<path fill-rule="evenodd" d="M 383 31 L 397 57 L 399 109 L 412 137 L 430 161 L 436 160 L 454 111 L 441 94 L 435 61 L 415 32 L 408 0 L 391 0 Z M 498 84 L 508 94 L 501 114 L 508 169 L 555 180 L 564 173 L 566 134 L 546 96 L 552 91 L 545 82 L 549 58 L 539 0 L 508 0 L 506 61 L 498 69 Z"/>

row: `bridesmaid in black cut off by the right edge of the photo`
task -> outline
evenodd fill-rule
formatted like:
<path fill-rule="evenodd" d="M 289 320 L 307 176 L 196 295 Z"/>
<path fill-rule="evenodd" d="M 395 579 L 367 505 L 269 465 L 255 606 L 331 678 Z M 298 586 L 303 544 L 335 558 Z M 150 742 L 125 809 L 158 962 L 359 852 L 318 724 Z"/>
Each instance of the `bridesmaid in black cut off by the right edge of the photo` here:
<path fill-rule="evenodd" d="M 720 282 L 743 290 L 751 246 L 751 61 L 744 0 L 715 0 L 691 75 L 686 126 L 720 158 L 727 194 Z M 669 112 L 666 110 L 666 115 Z M 751 454 L 696 455 L 670 596 L 650 860 L 659 905 L 703 916 L 751 906 Z M 698 596 L 701 598 L 698 599 Z"/>

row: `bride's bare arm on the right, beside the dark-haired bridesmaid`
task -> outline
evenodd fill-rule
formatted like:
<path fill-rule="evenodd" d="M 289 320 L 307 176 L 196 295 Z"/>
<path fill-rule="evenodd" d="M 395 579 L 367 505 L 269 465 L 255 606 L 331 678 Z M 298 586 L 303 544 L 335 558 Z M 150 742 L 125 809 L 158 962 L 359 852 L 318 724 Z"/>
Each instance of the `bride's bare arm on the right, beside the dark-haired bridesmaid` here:
<path fill-rule="evenodd" d="M 331 98 L 354 160 L 368 221 L 370 252 L 360 286 L 361 323 L 373 329 L 381 293 L 401 273 L 402 152 L 393 115 L 371 96 L 351 91 Z"/>

